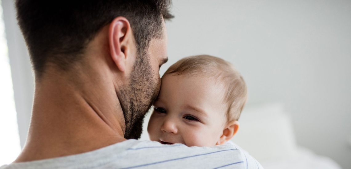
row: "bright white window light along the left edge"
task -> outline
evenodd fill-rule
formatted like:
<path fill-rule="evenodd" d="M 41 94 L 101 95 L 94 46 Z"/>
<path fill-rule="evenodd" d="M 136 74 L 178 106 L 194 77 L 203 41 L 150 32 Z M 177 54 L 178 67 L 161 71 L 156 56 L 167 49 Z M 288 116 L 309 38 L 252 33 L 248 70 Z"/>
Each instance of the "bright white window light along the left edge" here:
<path fill-rule="evenodd" d="M 20 151 L 11 69 L 0 1 L 0 166 L 13 162 Z"/>

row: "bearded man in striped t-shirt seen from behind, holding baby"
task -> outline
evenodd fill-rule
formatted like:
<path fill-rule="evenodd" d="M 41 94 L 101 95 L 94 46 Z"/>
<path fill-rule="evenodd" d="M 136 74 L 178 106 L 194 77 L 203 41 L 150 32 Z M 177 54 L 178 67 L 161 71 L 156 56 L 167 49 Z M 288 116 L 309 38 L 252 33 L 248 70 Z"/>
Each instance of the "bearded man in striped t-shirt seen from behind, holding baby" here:
<path fill-rule="evenodd" d="M 35 73 L 27 142 L 7 168 L 259 168 L 233 146 L 140 142 L 167 61 L 168 0 L 17 0 Z M 130 139 L 130 140 L 127 140 Z"/>

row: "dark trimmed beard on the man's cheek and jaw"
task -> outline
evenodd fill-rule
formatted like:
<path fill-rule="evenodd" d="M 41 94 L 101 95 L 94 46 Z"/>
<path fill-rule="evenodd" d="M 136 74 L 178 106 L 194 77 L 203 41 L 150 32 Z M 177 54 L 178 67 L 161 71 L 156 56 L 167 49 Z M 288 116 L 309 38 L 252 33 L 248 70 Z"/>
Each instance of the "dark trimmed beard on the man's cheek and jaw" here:
<path fill-rule="evenodd" d="M 147 111 L 160 91 L 160 78 L 151 69 L 147 54 L 139 54 L 135 60 L 130 83 L 117 91 L 125 119 L 126 139 L 139 139 Z"/>

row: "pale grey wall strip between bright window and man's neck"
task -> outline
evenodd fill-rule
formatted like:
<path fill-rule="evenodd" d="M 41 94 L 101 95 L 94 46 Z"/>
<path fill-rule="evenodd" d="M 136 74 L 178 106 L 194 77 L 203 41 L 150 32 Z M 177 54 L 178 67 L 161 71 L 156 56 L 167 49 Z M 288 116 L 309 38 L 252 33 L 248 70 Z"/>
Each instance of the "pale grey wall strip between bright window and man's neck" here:
<path fill-rule="evenodd" d="M 33 103 L 33 75 L 26 43 L 17 25 L 13 0 L 2 0 L 8 56 L 11 65 L 13 92 L 15 98 L 18 130 L 23 148 L 27 134 Z"/>

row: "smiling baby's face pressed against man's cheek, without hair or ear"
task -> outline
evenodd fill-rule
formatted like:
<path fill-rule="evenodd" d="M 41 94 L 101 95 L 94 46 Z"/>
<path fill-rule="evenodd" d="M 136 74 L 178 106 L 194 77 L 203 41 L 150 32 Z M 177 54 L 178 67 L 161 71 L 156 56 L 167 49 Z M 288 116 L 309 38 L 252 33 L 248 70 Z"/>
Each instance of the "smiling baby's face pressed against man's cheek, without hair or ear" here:
<path fill-rule="evenodd" d="M 207 77 L 166 75 L 147 131 L 163 144 L 211 147 L 226 124 L 223 91 Z"/>

